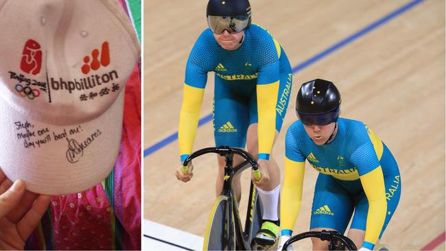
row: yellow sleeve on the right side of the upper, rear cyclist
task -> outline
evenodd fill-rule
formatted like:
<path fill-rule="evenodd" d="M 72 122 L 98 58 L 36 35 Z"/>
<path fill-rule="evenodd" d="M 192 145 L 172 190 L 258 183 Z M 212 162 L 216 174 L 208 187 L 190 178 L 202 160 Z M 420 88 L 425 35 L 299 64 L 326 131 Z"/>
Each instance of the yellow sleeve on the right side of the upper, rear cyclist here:
<path fill-rule="evenodd" d="M 274 143 L 278 93 L 279 81 L 271 84 L 257 84 L 259 158 L 268 159 L 271 153 L 272 143 Z"/>

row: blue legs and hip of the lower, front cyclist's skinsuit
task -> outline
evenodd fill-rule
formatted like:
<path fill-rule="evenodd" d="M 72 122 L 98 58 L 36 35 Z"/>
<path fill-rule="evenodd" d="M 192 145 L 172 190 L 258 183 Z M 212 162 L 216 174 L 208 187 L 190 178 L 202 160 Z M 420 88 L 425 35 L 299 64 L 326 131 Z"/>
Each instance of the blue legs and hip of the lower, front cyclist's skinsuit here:
<path fill-rule="evenodd" d="M 395 159 L 384 145 L 382 165 L 394 165 Z M 381 239 L 401 197 L 401 179 L 398 169 L 384 175 L 387 213 L 379 234 Z M 333 228 L 345 232 L 353 214 L 350 228 L 366 230 L 368 200 L 359 180 L 338 180 L 326 174 L 319 174 L 314 189 L 310 228 Z"/>

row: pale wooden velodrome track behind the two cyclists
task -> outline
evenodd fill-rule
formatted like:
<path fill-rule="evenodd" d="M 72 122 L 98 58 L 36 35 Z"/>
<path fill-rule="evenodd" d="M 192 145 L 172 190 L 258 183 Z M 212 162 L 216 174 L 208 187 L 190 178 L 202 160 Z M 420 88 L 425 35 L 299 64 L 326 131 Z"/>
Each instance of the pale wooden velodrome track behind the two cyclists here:
<path fill-rule="evenodd" d="M 145 1 L 144 5 L 144 218 L 203 235 L 215 198 L 215 156 L 194 162 L 191 182 L 176 180 L 185 64 L 207 28 L 207 1 Z M 342 93 L 342 115 L 364 121 L 388 145 L 401 171 L 399 207 L 382 243 L 419 250 L 445 231 L 445 1 L 408 5 L 370 32 L 302 63 L 411 3 L 397 1 L 251 0 L 253 22 L 266 27 L 295 68 L 290 105 L 274 146 L 283 170 L 284 135 L 296 120 L 296 91 L 320 77 Z M 211 113 L 213 73 L 200 117 Z M 161 147 L 156 143 L 161 143 Z M 213 146 L 212 123 L 199 129 L 194 150 Z M 307 165 L 301 213 L 294 233 L 309 228 L 317 172 Z M 242 178 L 246 208 L 249 174 Z M 283 177 L 282 177 L 283 180 Z M 245 200 L 244 200 L 245 199 Z M 438 250 L 445 249 L 439 241 Z M 310 241 L 295 248 L 309 249 Z"/>

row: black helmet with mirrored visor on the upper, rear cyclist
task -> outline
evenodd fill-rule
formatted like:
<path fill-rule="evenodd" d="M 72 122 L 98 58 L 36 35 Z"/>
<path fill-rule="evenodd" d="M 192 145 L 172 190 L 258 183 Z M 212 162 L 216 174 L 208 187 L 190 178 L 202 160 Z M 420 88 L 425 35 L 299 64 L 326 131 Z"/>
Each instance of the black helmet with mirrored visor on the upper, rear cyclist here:
<path fill-rule="evenodd" d="M 251 23 L 251 6 L 248 0 L 209 0 L 206 16 L 212 32 L 239 33 Z"/>

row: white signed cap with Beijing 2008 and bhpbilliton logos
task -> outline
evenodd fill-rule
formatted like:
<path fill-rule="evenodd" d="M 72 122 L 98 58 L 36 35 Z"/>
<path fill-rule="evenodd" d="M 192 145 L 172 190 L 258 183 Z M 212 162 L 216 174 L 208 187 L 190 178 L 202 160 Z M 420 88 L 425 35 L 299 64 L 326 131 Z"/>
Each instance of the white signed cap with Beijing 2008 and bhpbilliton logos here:
<path fill-rule="evenodd" d="M 0 168 L 76 193 L 115 165 L 125 84 L 140 57 L 114 0 L 0 1 Z"/>

